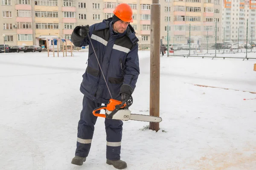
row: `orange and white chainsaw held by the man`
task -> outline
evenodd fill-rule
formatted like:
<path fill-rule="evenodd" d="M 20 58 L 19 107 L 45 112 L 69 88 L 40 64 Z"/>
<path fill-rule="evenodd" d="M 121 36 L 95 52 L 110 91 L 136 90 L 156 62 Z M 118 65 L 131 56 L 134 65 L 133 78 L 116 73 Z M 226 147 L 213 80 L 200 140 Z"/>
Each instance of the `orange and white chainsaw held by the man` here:
<path fill-rule="evenodd" d="M 97 117 L 103 117 L 107 119 L 117 119 L 117 120 L 137 120 L 143 122 L 161 122 L 162 118 L 155 116 L 148 116 L 142 114 L 131 114 L 131 111 L 128 107 L 131 106 L 133 102 L 133 98 L 126 101 L 119 101 L 115 99 L 110 99 L 106 106 L 101 106 L 93 110 L 93 115 Z M 96 113 L 96 111 L 100 111 L 105 109 L 105 114 Z"/>

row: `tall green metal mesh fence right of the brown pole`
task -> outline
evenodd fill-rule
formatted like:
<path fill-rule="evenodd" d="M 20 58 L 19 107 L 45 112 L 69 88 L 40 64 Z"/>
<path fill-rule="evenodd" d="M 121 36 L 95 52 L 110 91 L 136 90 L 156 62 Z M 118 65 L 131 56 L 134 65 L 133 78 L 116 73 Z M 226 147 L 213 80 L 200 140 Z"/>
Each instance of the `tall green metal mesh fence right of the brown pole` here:
<path fill-rule="evenodd" d="M 254 28 L 248 27 L 248 20 L 245 24 L 231 34 L 231 26 L 223 27 L 217 21 L 186 25 L 177 22 L 165 27 L 163 44 L 169 49 L 168 56 L 256 59 Z"/>

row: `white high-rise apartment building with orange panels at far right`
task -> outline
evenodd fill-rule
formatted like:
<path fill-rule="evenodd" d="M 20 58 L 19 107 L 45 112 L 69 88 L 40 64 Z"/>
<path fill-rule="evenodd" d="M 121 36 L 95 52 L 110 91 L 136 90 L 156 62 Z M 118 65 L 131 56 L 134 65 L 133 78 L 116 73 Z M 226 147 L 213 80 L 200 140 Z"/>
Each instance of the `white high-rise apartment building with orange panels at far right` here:
<path fill-rule="evenodd" d="M 255 41 L 256 0 L 224 0 L 223 23 L 225 41 Z M 248 30 L 247 30 L 248 20 Z"/>

